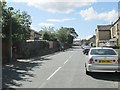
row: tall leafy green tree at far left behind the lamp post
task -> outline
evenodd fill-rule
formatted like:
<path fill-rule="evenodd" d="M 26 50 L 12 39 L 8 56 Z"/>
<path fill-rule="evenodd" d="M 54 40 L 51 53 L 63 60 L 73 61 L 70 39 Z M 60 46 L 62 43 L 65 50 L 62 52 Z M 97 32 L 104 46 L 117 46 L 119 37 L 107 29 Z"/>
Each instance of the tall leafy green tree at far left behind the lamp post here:
<path fill-rule="evenodd" d="M 10 21 L 11 20 L 11 21 Z M 32 23 L 30 15 L 27 12 L 13 10 L 11 13 L 7 8 L 6 2 L 2 2 L 2 35 L 3 40 L 9 39 L 10 23 L 12 25 L 13 43 L 21 40 L 27 40 L 30 37 L 30 25 Z"/>

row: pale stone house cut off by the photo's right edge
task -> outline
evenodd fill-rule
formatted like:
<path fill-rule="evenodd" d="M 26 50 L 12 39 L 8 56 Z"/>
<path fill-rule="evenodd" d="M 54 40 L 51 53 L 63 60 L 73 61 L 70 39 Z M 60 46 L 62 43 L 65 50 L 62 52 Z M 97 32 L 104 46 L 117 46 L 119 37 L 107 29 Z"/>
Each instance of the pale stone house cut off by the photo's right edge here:
<path fill-rule="evenodd" d="M 112 24 L 111 27 L 111 39 L 109 40 L 111 46 L 117 46 L 120 44 L 120 17 Z"/>

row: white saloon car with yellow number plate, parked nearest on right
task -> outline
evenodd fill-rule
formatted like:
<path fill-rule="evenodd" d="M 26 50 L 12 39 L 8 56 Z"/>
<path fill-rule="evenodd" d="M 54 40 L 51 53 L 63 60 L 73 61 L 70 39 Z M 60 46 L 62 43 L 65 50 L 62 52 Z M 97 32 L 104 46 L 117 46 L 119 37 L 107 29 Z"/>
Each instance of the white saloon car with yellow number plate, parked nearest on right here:
<path fill-rule="evenodd" d="M 91 48 L 85 62 L 86 74 L 90 72 L 119 72 L 120 60 L 112 48 Z"/>

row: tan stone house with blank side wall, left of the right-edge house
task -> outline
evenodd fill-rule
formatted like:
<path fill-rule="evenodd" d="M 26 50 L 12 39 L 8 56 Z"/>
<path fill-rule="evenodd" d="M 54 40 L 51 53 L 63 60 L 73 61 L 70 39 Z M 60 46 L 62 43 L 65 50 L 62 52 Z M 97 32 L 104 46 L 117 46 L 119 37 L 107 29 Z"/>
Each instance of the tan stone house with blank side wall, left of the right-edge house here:
<path fill-rule="evenodd" d="M 106 46 L 111 39 L 112 25 L 97 25 L 96 29 L 96 47 Z"/>

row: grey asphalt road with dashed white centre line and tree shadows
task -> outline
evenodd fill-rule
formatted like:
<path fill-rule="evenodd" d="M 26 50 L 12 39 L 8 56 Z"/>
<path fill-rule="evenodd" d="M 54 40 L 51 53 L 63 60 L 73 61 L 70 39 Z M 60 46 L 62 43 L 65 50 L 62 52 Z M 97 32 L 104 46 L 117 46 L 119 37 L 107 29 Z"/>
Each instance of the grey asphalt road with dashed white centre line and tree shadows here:
<path fill-rule="evenodd" d="M 19 60 L 19 64 L 4 66 L 3 87 L 118 88 L 118 73 L 86 75 L 85 59 L 82 49 L 76 46 L 64 52 Z"/>

